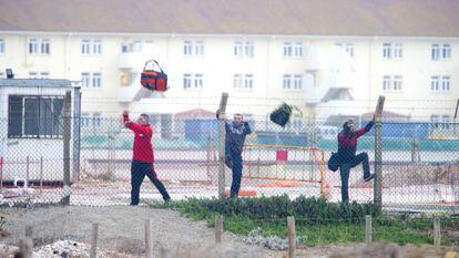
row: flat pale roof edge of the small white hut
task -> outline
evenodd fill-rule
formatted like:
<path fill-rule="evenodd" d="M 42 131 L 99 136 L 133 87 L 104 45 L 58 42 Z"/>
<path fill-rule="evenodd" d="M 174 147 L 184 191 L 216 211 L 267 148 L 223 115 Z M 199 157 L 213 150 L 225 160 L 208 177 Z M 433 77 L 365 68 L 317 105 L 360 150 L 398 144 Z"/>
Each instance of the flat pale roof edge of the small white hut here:
<path fill-rule="evenodd" d="M 57 79 L 0 79 L 0 87 L 73 87 L 72 81 Z"/>

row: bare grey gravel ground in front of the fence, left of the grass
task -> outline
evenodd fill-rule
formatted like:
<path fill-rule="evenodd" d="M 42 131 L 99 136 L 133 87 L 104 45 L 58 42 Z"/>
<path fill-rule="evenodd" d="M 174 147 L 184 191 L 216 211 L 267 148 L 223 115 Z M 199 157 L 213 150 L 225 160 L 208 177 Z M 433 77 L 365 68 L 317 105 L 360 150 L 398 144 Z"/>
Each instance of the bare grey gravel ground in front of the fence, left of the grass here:
<path fill-rule="evenodd" d="M 59 206 L 35 209 L 3 208 L 0 210 L 0 216 L 6 218 L 6 230 L 11 234 L 0 239 L 2 244 L 17 245 L 23 237 L 24 226 L 32 225 L 35 247 L 50 250 L 53 248 L 50 245 L 53 244 L 57 245 L 54 249 L 59 249 L 60 254 L 65 248 L 69 252 L 71 247 L 88 252 L 93 223 L 99 224 L 98 247 L 134 257 L 144 255 L 145 219 L 152 221 L 155 256 L 159 256 L 161 247 L 185 250 L 211 247 L 215 242 L 214 230 L 205 221 L 192 221 L 180 213 L 169 209 L 131 206 Z M 237 250 L 236 257 L 277 257 L 276 254 L 275 256 L 266 254 L 268 250 L 262 247 L 244 244 L 241 237 L 227 231 L 223 235 L 223 242 Z M 76 244 L 78 248 L 73 244 Z"/>

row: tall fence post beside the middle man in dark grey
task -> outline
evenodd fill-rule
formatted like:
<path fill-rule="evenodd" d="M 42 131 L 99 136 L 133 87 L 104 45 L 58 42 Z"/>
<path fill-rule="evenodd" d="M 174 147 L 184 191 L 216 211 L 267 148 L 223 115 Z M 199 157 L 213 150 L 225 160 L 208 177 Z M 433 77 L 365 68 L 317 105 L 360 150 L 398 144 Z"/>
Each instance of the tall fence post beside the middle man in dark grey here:
<path fill-rule="evenodd" d="M 220 116 L 218 116 L 218 197 L 225 197 L 225 123 L 226 123 L 226 103 L 228 101 L 228 93 L 223 92 L 220 100 Z"/>

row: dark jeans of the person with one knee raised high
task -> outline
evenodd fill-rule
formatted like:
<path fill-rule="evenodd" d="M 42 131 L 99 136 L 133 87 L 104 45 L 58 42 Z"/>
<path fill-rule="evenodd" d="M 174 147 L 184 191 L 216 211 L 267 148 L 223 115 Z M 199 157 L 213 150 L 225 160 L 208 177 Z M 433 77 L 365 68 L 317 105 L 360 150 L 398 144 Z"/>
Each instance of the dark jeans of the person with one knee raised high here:
<path fill-rule="evenodd" d="M 349 202 L 349 173 L 350 168 L 356 167 L 363 163 L 364 165 L 364 178 L 369 177 L 369 163 L 368 163 L 368 154 L 360 153 L 354 156 L 350 161 L 341 164 L 339 166 L 339 172 L 341 176 L 341 202 L 348 203 Z"/>

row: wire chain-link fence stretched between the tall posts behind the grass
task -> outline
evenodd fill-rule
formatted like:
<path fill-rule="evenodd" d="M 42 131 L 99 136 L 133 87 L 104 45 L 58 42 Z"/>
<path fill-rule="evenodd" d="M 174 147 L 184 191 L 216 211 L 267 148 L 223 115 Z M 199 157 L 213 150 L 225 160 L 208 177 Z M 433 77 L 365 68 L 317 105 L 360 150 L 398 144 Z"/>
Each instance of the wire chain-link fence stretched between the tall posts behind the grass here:
<path fill-rule="evenodd" d="M 341 200 L 341 177 L 327 162 L 338 149 L 345 121 L 296 121 L 280 127 L 268 120 L 247 118 L 247 135 L 239 196 L 299 195 Z M 154 169 L 172 199 L 218 196 L 218 121 L 151 115 Z M 131 202 L 133 133 L 121 118 L 101 118 L 81 126 L 70 141 L 71 184 L 64 186 L 62 132 L 32 134 L 28 126 L 11 136 L 11 121 L 1 120 L 1 202 L 4 205 L 58 203 L 70 196 L 72 205 L 128 205 Z M 356 130 L 367 124 L 357 121 Z M 35 125 L 45 127 L 45 123 Z M 43 128 L 44 128 L 43 127 Z M 398 123 L 381 125 L 381 195 L 387 210 L 459 211 L 459 136 L 452 123 Z M 73 130 L 75 130 L 73 127 Z M 29 132 L 30 131 L 30 132 Z M 59 133 L 60 132 L 60 133 Z M 368 154 L 375 168 L 375 130 L 358 138 L 357 154 Z M 80 146 L 80 147 L 78 147 Z M 225 171 L 226 194 L 232 171 Z M 161 199 L 150 182 L 141 200 Z M 349 202 L 374 200 L 374 180 L 364 180 L 363 165 L 350 169 Z"/>

